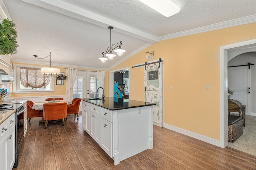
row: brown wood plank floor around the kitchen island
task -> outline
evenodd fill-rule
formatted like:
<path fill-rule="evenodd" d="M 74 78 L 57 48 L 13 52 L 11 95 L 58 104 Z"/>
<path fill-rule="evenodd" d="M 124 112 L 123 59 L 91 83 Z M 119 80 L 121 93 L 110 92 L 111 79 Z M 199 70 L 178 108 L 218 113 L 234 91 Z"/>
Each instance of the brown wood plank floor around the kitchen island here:
<path fill-rule="evenodd" d="M 219 148 L 192 137 L 154 126 L 154 149 L 145 150 L 114 166 L 113 160 L 82 129 L 79 120 L 68 115 L 65 126 L 32 118 L 19 149 L 15 170 L 252 170 L 256 156 L 232 148 Z"/>

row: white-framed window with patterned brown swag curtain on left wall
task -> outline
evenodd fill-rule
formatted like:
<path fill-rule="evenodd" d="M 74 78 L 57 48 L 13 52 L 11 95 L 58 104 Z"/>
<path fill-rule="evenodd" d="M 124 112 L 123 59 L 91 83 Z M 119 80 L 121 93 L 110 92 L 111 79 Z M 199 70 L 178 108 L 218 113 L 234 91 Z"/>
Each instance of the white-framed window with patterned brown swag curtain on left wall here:
<path fill-rule="evenodd" d="M 32 88 L 30 85 L 27 85 L 27 87 L 24 86 L 26 84 L 26 80 L 20 77 L 20 71 L 22 70 L 22 73 L 24 73 L 24 68 L 31 68 L 32 70 L 38 70 L 41 68 L 41 66 L 32 66 L 32 65 L 23 65 L 23 64 L 14 64 L 14 76 L 15 76 L 15 83 L 14 83 L 14 92 L 13 93 L 49 93 L 54 92 L 54 77 L 48 77 L 45 78 L 43 82 L 45 82 L 45 87 L 38 87 L 38 88 Z M 33 73 L 32 73 L 33 74 Z M 28 74 L 28 76 L 32 76 L 32 74 Z M 41 73 L 37 72 L 35 74 L 38 74 L 38 76 L 41 76 Z M 34 78 L 36 75 L 33 75 Z M 42 77 L 41 77 L 42 78 Z M 21 82 L 22 80 L 22 82 Z M 47 80 L 47 81 L 46 81 Z M 22 85 L 23 84 L 23 85 Z M 29 84 L 29 83 L 28 83 Z"/>

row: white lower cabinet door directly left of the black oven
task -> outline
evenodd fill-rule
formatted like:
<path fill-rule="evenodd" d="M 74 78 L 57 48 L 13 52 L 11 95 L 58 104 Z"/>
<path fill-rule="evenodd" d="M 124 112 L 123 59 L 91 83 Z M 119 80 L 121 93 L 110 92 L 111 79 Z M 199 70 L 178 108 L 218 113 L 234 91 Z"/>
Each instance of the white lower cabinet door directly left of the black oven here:
<path fill-rule="evenodd" d="M 15 162 L 15 127 L 12 127 L 7 137 L 7 150 L 8 150 L 8 170 L 12 170 Z"/>

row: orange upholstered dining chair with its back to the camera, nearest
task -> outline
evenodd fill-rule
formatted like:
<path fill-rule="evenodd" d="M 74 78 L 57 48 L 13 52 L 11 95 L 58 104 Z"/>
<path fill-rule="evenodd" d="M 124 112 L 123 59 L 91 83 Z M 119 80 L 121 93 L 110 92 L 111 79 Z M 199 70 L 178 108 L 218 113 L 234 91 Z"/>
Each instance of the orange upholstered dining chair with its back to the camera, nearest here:
<path fill-rule="evenodd" d="M 67 117 L 68 104 L 63 103 L 45 103 L 43 104 L 43 113 L 45 126 L 48 125 L 48 121 L 62 119 L 62 126 L 65 125 L 65 118 Z"/>

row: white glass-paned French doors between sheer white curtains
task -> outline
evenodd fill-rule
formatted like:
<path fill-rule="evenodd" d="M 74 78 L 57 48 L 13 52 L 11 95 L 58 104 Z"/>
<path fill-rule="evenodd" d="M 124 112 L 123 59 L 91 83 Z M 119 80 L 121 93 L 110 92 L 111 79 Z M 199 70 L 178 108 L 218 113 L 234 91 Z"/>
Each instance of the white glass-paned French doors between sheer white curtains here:
<path fill-rule="evenodd" d="M 74 98 L 98 98 L 100 87 L 96 72 L 78 71 L 76 80 L 73 86 Z M 82 110 L 82 102 L 80 103 L 79 111 Z"/>

